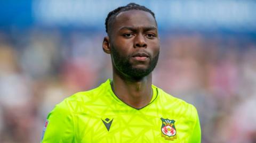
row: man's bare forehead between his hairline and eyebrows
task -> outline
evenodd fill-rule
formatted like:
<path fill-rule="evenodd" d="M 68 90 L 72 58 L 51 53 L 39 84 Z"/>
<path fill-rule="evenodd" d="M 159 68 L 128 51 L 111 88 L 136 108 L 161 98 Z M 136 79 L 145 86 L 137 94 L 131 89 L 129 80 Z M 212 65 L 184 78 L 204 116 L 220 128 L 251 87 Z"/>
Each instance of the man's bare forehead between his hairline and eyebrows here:
<path fill-rule="evenodd" d="M 113 30 L 116 31 L 122 27 L 155 27 L 156 21 L 149 12 L 141 10 L 130 10 L 119 13 L 113 23 Z"/>

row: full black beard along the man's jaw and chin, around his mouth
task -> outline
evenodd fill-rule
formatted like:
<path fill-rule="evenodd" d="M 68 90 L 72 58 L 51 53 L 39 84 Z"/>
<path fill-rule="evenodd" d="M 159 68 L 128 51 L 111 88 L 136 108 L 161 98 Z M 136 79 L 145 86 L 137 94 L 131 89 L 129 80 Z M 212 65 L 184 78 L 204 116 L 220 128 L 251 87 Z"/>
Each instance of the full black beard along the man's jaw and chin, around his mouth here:
<path fill-rule="evenodd" d="M 135 80 L 140 80 L 151 73 L 156 67 L 159 56 L 159 52 L 154 57 L 149 56 L 149 64 L 147 68 L 133 68 L 132 63 L 130 62 L 130 58 L 132 58 L 131 55 L 127 57 L 121 56 L 114 46 L 111 47 L 111 53 L 114 68 L 124 77 L 130 77 Z"/>

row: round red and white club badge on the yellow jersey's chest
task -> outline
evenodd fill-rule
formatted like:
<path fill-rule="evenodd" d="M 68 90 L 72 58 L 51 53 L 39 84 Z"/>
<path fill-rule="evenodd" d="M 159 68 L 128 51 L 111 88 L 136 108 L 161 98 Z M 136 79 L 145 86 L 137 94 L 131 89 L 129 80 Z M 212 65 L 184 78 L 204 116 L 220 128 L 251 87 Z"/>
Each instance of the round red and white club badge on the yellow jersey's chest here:
<path fill-rule="evenodd" d="M 169 120 L 169 119 L 163 119 L 163 117 L 161 117 L 162 120 L 162 137 L 164 137 L 164 139 L 166 140 L 174 140 L 177 139 L 177 131 L 175 129 L 175 125 L 174 125 L 174 120 Z"/>

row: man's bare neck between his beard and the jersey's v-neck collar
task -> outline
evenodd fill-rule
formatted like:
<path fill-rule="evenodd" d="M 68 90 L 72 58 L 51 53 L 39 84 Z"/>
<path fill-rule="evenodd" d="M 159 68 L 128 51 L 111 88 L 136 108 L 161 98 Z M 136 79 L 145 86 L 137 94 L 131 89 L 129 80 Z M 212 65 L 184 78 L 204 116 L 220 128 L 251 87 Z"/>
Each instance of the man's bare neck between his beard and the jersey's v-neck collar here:
<path fill-rule="evenodd" d="M 151 85 L 151 73 L 140 80 L 134 80 L 130 78 L 123 78 L 114 72 L 111 88 L 115 95 L 124 103 L 139 109 L 150 103 L 153 95 Z"/>

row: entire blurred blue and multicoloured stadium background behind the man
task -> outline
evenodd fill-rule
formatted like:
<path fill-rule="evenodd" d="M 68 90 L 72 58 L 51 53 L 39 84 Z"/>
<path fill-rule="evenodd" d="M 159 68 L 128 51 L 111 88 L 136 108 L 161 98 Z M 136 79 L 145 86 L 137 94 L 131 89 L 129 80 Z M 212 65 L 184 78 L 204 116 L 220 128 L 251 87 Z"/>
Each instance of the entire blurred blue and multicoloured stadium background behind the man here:
<path fill-rule="evenodd" d="M 0 142 L 39 142 L 63 98 L 111 78 L 105 18 L 131 1 L 0 1 Z M 202 142 L 256 142 L 256 1 L 132 1 L 162 43 L 153 83 L 197 107 Z"/>

